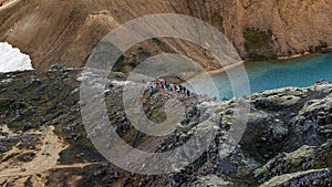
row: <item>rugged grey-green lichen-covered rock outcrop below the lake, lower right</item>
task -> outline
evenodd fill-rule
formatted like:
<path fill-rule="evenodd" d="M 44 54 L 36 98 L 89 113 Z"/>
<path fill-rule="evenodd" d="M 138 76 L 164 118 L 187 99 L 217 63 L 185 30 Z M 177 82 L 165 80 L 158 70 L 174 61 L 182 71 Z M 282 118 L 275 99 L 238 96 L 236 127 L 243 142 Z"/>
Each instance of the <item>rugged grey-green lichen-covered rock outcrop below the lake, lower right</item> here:
<path fill-rule="evenodd" d="M 227 157 L 220 157 L 225 146 L 230 145 L 229 137 L 224 136 L 225 132 L 221 131 L 216 136 L 216 145 L 193 166 L 174 175 L 172 185 L 269 187 L 331 185 L 332 139 L 329 133 L 331 123 L 326 120 L 331 108 L 331 84 L 322 83 L 307 89 L 286 87 L 253 94 L 251 103 L 255 108 L 250 111 L 247 131 L 239 147 Z M 313 104 L 314 101 L 317 104 Z M 219 113 L 220 129 L 227 131 L 234 125 L 227 120 L 232 116 L 232 102 L 209 105 L 222 111 Z M 303 116 L 303 113 L 307 115 Z M 309 120 L 313 127 L 299 127 L 299 118 Z M 190 131 L 178 131 L 177 143 L 185 141 L 193 134 L 191 131 L 195 131 L 193 123 L 189 120 L 187 122 L 189 123 L 183 123 L 179 129 L 188 127 Z M 328 132 L 321 133 L 319 131 L 321 128 Z M 177 180 L 179 176 L 181 179 Z"/>

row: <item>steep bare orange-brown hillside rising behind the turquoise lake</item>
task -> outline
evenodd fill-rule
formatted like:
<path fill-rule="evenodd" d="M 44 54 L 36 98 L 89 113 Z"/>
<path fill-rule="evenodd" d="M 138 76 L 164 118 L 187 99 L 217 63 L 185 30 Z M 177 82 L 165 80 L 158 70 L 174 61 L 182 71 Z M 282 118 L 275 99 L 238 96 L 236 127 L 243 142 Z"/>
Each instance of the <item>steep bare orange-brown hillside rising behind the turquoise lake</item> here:
<path fill-rule="evenodd" d="M 4 0 L 2 0 L 4 1 Z M 329 0 L 11 0 L 0 7 L 0 41 L 31 55 L 35 69 L 56 62 L 83 66 L 95 44 L 112 29 L 153 13 L 200 18 L 222 31 L 240 55 L 276 58 L 317 51 L 332 43 Z M 178 40 L 143 44 L 149 54 L 170 51 L 219 67 L 200 48 Z M 125 61 L 139 61 L 131 53 Z"/>

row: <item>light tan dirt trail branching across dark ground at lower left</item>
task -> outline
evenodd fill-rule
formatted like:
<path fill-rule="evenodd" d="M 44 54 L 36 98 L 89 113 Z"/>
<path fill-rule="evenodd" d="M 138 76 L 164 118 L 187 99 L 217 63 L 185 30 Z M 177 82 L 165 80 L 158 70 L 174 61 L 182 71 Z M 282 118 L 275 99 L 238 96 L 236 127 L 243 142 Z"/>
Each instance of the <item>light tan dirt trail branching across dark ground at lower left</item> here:
<path fill-rule="evenodd" d="M 54 168 L 75 168 L 75 167 L 85 167 L 98 163 L 79 163 L 72 165 L 58 165 L 58 159 L 60 158 L 60 153 L 68 148 L 69 145 L 64 143 L 63 139 L 59 138 L 54 133 L 54 126 L 48 126 L 42 128 L 39 132 L 29 132 L 28 134 L 38 135 L 41 139 L 41 145 L 34 150 L 21 150 L 17 147 L 13 147 L 11 150 L 4 153 L 3 157 L 7 157 L 12 154 L 25 154 L 34 153 L 35 157 L 29 163 L 21 163 L 15 160 L 6 160 L 1 162 L 0 165 L 0 181 L 1 178 L 7 177 L 22 177 L 22 176 L 33 176 L 41 174 L 49 169 Z M 2 127 L 2 132 L 9 134 L 9 136 L 14 136 L 7 126 Z"/>

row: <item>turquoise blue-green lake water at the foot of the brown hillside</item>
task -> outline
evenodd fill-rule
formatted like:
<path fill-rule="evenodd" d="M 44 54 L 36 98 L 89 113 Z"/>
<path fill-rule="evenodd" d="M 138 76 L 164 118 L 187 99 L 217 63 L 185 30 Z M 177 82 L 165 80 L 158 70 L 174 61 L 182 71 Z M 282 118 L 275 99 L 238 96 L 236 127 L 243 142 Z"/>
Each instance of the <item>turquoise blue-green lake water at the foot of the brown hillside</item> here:
<path fill-rule="evenodd" d="M 313 85 L 317 80 L 332 81 L 332 52 L 311 54 L 288 61 L 247 62 L 245 67 L 249 77 L 250 92 Z M 226 73 L 212 75 L 218 90 L 218 98 L 231 98 L 231 85 Z M 215 96 L 209 85 L 199 84 L 200 94 Z"/>

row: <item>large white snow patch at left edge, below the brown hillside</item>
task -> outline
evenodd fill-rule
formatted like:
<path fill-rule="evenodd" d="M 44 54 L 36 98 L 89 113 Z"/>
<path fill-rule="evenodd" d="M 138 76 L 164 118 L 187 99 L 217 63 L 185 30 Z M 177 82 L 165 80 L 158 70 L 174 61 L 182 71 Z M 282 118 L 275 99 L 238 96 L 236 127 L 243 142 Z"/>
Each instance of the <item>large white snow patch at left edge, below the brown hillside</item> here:
<path fill-rule="evenodd" d="M 29 55 L 7 42 L 0 42 L 0 72 L 33 70 Z"/>

